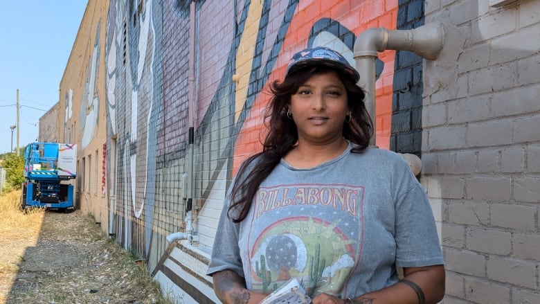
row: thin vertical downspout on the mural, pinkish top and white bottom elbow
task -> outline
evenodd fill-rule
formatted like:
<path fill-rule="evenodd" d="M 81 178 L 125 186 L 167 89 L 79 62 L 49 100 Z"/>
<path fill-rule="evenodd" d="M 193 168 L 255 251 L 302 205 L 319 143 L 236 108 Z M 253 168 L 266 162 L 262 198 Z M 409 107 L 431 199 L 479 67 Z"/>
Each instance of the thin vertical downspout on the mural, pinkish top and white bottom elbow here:
<path fill-rule="evenodd" d="M 186 193 L 186 232 L 176 232 L 168 235 L 166 240 L 170 243 L 176 240 L 188 240 L 190 244 L 199 242 L 199 235 L 193 232 L 193 158 L 195 145 L 195 0 L 190 3 L 190 30 L 189 30 L 189 71 L 188 71 L 188 158 L 187 181 L 183 183 Z M 184 176 L 182 177 L 182 179 Z"/>

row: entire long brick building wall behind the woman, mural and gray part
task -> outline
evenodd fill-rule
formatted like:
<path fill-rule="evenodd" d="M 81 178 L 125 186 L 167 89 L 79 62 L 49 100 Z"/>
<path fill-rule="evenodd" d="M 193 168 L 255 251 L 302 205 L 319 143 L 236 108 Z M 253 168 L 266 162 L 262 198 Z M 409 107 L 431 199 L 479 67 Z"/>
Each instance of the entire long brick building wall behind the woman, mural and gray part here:
<path fill-rule="evenodd" d="M 366 29 L 424 24 L 444 28 L 435 59 L 377 56 L 377 145 L 422 159 L 444 303 L 540 303 L 539 1 L 91 0 L 60 84 L 80 208 L 164 294 L 219 303 L 206 265 L 269 82 L 305 47 L 354 64 Z"/>

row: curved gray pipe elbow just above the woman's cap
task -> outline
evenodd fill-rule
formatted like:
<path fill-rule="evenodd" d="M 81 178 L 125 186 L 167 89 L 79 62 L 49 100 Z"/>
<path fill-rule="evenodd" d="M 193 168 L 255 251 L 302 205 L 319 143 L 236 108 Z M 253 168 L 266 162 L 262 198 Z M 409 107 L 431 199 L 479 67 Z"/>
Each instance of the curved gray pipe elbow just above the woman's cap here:
<path fill-rule="evenodd" d="M 358 35 L 354 42 L 354 59 L 359 57 L 377 57 L 378 52 L 386 50 L 388 30 L 386 28 L 368 28 Z"/>

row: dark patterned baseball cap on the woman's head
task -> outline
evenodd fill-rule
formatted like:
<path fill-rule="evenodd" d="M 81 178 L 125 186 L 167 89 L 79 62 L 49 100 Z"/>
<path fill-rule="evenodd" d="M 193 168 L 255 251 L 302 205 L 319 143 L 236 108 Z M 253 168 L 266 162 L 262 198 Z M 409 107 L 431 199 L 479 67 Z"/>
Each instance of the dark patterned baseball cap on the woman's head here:
<path fill-rule="evenodd" d="M 291 58 L 291 62 L 289 62 L 289 65 L 287 66 L 285 77 L 305 66 L 314 66 L 317 64 L 324 64 L 336 69 L 342 69 L 345 73 L 350 75 L 354 82 L 358 82 L 360 79 L 358 71 L 349 64 L 343 55 L 332 50 L 332 48 L 327 48 L 325 46 L 305 48 L 294 54 Z"/>

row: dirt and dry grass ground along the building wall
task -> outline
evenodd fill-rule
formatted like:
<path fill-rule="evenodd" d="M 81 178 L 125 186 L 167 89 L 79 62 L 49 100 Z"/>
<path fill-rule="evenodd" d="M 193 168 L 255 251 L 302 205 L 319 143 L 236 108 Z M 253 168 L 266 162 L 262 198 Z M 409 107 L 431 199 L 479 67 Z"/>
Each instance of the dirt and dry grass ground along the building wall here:
<path fill-rule="evenodd" d="M 170 303 L 90 216 L 46 211 L 38 227 L 0 231 L 0 303 Z"/>

